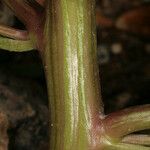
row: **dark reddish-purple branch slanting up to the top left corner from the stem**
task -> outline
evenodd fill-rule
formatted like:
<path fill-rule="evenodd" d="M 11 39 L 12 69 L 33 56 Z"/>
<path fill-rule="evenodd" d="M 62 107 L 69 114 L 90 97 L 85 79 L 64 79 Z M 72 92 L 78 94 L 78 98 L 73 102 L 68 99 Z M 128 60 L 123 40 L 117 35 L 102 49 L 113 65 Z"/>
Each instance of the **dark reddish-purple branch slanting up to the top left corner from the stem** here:
<path fill-rule="evenodd" d="M 37 10 L 32 4 L 32 0 L 30 2 L 25 0 L 3 0 L 2 2 L 5 2 L 25 24 L 31 40 L 36 43 L 36 47 L 41 53 L 44 49 L 43 26 L 45 12 Z"/>

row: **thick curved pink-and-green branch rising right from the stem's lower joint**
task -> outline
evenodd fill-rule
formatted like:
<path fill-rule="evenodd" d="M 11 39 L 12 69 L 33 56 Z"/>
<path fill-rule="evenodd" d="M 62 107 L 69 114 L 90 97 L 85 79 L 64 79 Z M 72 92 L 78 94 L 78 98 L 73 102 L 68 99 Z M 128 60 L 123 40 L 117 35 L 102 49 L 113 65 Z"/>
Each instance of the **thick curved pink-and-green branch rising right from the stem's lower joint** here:
<path fill-rule="evenodd" d="M 131 107 L 108 115 L 103 121 L 105 134 L 118 141 L 130 133 L 150 128 L 150 105 Z"/>

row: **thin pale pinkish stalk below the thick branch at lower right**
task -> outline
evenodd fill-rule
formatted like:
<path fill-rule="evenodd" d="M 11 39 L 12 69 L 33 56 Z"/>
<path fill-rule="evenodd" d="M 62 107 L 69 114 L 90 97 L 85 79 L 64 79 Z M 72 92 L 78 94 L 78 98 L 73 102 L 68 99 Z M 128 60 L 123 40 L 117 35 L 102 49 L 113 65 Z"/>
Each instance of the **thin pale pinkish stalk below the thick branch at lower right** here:
<path fill-rule="evenodd" d="M 132 134 L 125 136 L 122 142 L 150 146 L 150 135 Z"/>

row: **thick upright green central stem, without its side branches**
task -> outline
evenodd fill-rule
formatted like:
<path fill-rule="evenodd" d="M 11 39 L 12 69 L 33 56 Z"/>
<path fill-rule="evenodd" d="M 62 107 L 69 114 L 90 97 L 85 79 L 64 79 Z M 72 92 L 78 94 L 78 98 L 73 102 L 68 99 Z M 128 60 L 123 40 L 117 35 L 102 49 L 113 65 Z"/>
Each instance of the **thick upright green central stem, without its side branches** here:
<path fill-rule="evenodd" d="M 47 3 L 42 55 L 50 103 L 51 150 L 87 150 L 97 142 L 93 135 L 103 104 L 96 63 L 94 7 L 94 0 Z"/>

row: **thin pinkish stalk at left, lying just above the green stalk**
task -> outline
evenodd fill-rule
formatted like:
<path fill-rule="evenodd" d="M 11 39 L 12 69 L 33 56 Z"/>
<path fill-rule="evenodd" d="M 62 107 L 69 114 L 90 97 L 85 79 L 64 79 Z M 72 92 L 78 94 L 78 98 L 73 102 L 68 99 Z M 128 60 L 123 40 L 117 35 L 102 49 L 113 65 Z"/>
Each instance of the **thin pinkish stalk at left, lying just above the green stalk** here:
<path fill-rule="evenodd" d="M 6 36 L 12 39 L 17 39 L 17 40 L 29 39 L 29 35 L 27 31 L 14 29 L 14 28 L 7 27 L 4 25 L 0 25 L 0 35 Z"/>

